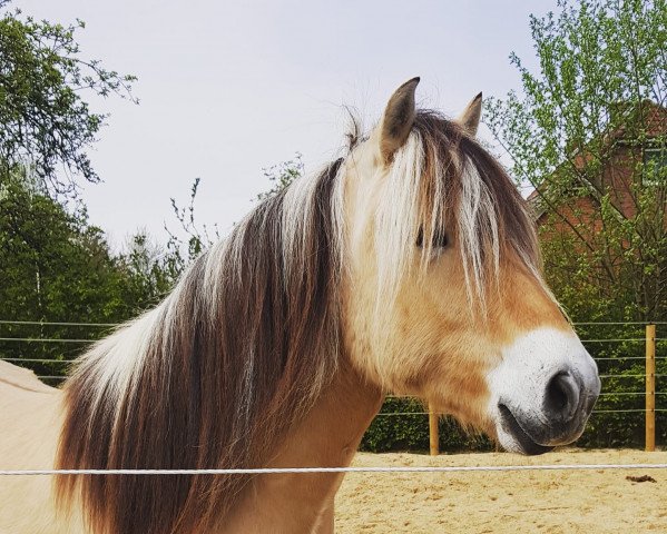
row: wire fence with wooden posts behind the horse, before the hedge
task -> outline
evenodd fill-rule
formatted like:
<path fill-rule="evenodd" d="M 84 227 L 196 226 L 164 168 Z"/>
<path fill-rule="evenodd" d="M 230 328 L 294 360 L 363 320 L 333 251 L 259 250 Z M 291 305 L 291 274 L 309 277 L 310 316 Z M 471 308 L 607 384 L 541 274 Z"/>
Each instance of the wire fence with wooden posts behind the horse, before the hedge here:
<path fill-rule="evenodd" d="M 645 355 L 644 356 L 615 356 L 615 357 L 596 357 L 598 365 L 601 366 L 600 378 L 602 379 L 602 393 L 600 394 L 600 398 L 605 399 L 609 398 L 636 398 L 644 397 L 644 408 L 638 407 L 618 407 L 614 406 L 614 409 L 600 408 L 597 407 L 594 411 L 595 414 L 644 414 L 644 426 L 645 426 L 645 449 L 646 451 L 655 451 L 656 447 L 656 413 L 667 412 L 667 408 L 656 407 L 656 397 L 659 395 L 666 395 L 667 392 L 658 392 L 656 389 L 656 378 L 667 377 L 667 367 L 665 367 L 665 373 L 656 372 L 656 360 L 658 359 L 667 359 L 664 355 L 658 355 L 657 353 L 657 344 L 659 342 L 665 342 L 666 338 L 659 338 L 656 335 L 656 325 L 665 325 L 667 323 L 576 323 L 576 327 L 586 328 L 602 328 L 606 326 L 620 326 L 620 327 L 644 327 L 644 336 L 643 337 L 611 337 L 604 338 L 595 336 L 592 338 L 582 339 L 585 345 L 595 345 L 595 344 L 639 344 L 643 343 L 645 345 Z M 2 347 L 6 347 L 4 350 L 8 350 L 11 356 L 6 356 L 4 353 L 0 352 L 0 359 L 4 359 L 7 362 L 11 362 L 19 365 L 24 365 L 33 368 L 38 373 L 38 377 L 47 383 L 57 384 L 62 380 L 62 372 L 66 366 L 71 363 L 75 356 L 85 347 L 87 344 L 95 342 L 100 337 L 100 334 L 106 333 L 109 328 L 116 326 L 115 324 L 108 323 L 47 323 L 47 322 L 12 322 L 12 320 L 0 320 L 0 328 L 4 328 L 4 330 L 10 330 L 10 334 L 7 335 L 4 330 L 0 329 L 0 350 Z M 27 329 L 33 329 L 38 327 L 40 330 L 39 337 L 33 337 L 30 335 L 26 335 L 24 332 Z M 52 334 L 48 336 L 48 328 L 57 328 L 60 329 L 58 336 L 63 334 L 63 329 L 66 334 L 71 335 L 72 330 L 75 333 L 79 333 L 77 337 L 57 337 L 57 335 Z M 21 334 L 22 333 L 22 334 Z M 19 347 L 26 344 L 43 344 L 43 345 L 52 345 L 61 347 L 57 352 L 57 357 L 53 357 L 53 352 L 48 352 L 46 355 L 48 357 L 28 357 L 22 358 L 19 356 Z M 62 348 L 68 347 L 68 348 Z M 69 348 L 71 347 L 71 348 Z M 65 356 L 71 356 L 71 358 L 66 358 Z M 644 360 L 644 369 L 641 373 L 632 372 L 630 373 L 618 373 L 616 369 L 614 373 L 605 373 L 605 367 L 607 363 L 618 364 L 619 362 L 636 362 Z M 60 368 L 57 368 L 60 367 Z M 37 368 L 36 368 L 37 367 Z M 48 369 L 52 369 L 50 373 Z M 637 367 L 635 366 L 635 369 Z M 605 384 L 609 379 L 643 379 L 645 382 L 645 390 L 622 390 L 622 392 L 606 392 Z M 390 396 L 391 397 L 391 396 Z M 394 397 L 395 398 L 395 397 Z M 439 418 L 442 414 L 437 413 L 432 407 L 429 407 L 428 412 L 384 412 L 381 411 L 377 414 L 377 417 L 401 417 L 401 416 L 428 416 L 428 425 L 429 425 L 429 447 L 431 455 L 437 455 L 440 453 L 440 433 L 439 433 Z"/>

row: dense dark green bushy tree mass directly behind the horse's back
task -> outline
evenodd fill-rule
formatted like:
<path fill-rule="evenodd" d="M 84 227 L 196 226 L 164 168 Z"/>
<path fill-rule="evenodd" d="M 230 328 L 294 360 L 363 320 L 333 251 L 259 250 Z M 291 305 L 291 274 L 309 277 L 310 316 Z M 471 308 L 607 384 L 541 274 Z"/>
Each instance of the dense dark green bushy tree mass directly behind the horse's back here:
<path fill-rule="evenodd" d="M 96 339 L 108 328 L 90 325 L 121 323 L 164 298 L 178 276 L 171 263 L 171 253 L 145 233 L 127 253 L 112 254 L 85 209 L 70 212 L 26 174 L 0 184 L 0 337 Z M 61 375 L 66 367 L 57 362 L 86 345 L 0 340 L 0 356 L 51 359 L 29 366 Z"/>

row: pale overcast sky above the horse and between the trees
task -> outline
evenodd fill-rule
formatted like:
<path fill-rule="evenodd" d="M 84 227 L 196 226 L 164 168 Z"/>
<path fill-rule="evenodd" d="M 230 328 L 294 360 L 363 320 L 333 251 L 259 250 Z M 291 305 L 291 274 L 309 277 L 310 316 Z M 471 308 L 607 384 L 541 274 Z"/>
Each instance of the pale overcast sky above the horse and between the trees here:
<path fill-rule="evenodd" d="M 421 76 L 419 102 L 455 116 L 480 90 L 519 88 L 516 51 L 534 65 L 529 13 L 556 0 L 14 0 L 38 19 L 86 21 L 84 56 L 138 76 L 139 106 L 109 98 L 86 187 L 91 222 L 116 246 L 176 227 L 169 198 L 225 234 L 269 185 L 262 168 L 304 155 L 314 171 L 341 147 L 342 105 L 371 125 L 391 92 Z"/>

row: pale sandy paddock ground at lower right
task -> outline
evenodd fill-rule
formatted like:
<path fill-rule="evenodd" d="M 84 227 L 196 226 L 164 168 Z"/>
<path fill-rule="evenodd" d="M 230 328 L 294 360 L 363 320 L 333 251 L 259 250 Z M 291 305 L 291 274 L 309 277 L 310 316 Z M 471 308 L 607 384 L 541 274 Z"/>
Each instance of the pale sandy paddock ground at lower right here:
<path fill-rule="evenodd" d="M 357 454 L 353 465 L 667 463 L 667 452 Z M 656 483 L 626 476 L 650 475 Z M 336 533 L 667 533 L 667 469 L 351 473 Z"/>

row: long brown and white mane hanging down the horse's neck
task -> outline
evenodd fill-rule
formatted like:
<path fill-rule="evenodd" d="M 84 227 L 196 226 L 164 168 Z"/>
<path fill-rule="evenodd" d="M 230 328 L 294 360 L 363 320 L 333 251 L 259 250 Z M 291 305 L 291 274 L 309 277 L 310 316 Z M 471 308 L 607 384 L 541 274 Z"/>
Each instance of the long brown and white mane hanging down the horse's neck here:
<path fill-rule="evenodd" d="M 342 160 L 262 202 L 65 386 L 60 468 L 261 467 L 340 356 Z M 95 532 L 212 527 L 249 477 L 60 477 Z M 198 531 L 197 531 L 198 532 Z"/>

